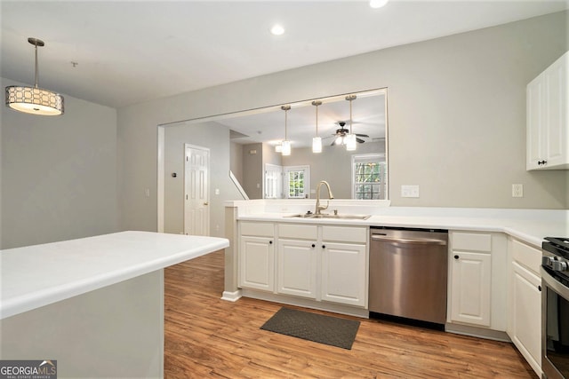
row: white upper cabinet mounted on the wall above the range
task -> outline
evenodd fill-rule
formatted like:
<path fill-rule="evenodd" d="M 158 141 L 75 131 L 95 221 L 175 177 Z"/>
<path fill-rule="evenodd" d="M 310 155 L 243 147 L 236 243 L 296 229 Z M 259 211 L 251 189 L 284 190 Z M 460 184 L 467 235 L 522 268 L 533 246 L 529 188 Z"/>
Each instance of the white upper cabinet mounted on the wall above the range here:
<path fill-rule="evenodd" d="M 569 51 L 527 85 L 527 170 L 569 169 Z"/>

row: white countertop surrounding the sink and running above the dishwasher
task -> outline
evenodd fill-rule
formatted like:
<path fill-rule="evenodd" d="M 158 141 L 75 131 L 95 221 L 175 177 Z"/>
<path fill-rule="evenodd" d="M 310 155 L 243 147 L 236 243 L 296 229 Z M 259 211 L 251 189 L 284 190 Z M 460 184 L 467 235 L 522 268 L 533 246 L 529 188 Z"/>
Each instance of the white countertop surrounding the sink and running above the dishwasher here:
<path fill-rule="evenodd" d="M 544 237 L 569 237 L 569 210 L 565 209 L 461 209 L 365 206 L 363 201 L 330 201 L 339 214 L 368 214 L 365 220 L 289 217 L 304 213 L 314 201 L 235 201 L 238 220 L 285 223 L 366 225 L 469 230 L 507 233 L 541 249 Z M 249 205 L 252 204 L 252 205 Z M 312 207 L 313 208 L 313 207 Z M 311 209 L 314 210 L 314 209 Z"/>

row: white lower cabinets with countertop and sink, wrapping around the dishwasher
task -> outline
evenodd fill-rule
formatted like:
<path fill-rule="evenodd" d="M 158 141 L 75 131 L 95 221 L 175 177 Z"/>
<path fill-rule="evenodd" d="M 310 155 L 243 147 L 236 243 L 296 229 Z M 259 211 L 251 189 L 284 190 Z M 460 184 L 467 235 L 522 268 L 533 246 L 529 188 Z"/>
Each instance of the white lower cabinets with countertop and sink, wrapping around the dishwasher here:
<path fill-rule="evenodd" d="M 511 340 L 541 375 L 541 242 L 569 234 L 568 210 L 334 199 L 325 217 L 308 211 L 315 212 L 314 200 L 226 202 L 231 247 L 223 298 L 249 296 L 365 318 L 370 227 L 445 230 L 445 330 Z"/>

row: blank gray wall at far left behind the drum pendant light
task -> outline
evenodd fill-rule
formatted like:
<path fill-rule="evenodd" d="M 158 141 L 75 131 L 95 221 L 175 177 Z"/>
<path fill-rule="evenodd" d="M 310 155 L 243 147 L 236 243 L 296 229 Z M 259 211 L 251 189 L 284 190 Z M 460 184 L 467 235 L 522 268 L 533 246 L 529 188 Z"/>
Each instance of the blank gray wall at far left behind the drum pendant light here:
<path fill-rule="evenodd" d="M 70 96 L 65 107 L 0 107 L 1 249 L 117 231 L 116 109 Z"/>

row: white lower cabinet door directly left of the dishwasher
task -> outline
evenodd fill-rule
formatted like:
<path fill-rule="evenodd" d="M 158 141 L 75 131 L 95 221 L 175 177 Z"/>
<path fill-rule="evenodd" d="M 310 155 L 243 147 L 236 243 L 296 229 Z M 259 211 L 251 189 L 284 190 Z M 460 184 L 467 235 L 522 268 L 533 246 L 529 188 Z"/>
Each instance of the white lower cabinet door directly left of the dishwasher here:
<path fill-rule="evenodd" d="M 365 244 L 322 244 L 322 300 L 365 306 Z"/>

